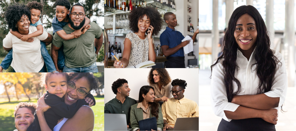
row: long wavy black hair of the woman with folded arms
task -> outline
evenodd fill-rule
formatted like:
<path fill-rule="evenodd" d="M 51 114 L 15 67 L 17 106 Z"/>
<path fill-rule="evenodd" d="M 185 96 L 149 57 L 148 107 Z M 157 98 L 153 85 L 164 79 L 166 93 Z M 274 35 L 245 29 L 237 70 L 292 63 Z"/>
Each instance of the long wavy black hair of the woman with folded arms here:
<path fill-rule="evenodd" d="M 238 44 L 236 43 L 234 37 L 234 31 L 236 27 L 236 21 L 243 15 L 249 14 L 253 17 L 256 22 L 257 29 L 257 40 L 255 42 L 256 49 L 255 52 L 255 60 L 256 63 L 252 64 L 252 67 L 256 65 L 252 71 L 256 71 L 257 76 L 259 78 L 257 93 L 265 93 L 271 90 L 272 83 L 274 80 L 274 75 L 276 73 L 276 68 L 279 63 L 281 63 L 276 56 L 273 55 L 272 50 L 270 49 L 270 39 L 268 36 L 267 28 L 261 17 L 258 10 L 253 6 L 240 6 L 236 8 L 228 23 L 228 29 L 225 32 L 224 42 L 223 42 L 223 54 L 218 57 L 215 64 L 211 65 L 211 71 L 213 67 L 222 60 L 222 66 L 224 68 L 224 84 L 226 86 L 227 99 L 228 102 L 232 101 L 234 95 L 241 92 L 241 83 L 238 79 L 234 77 L 234 72 L 236 70 L 236 57 L 237 57 L 237 48 Z M 282 65 L 282 63 L 281 63 Z M 238 67 L 239 68 L 239 67 Z M 232 81 L 234 81 L 237 85 L 237 91 L 233 91 Z"/>

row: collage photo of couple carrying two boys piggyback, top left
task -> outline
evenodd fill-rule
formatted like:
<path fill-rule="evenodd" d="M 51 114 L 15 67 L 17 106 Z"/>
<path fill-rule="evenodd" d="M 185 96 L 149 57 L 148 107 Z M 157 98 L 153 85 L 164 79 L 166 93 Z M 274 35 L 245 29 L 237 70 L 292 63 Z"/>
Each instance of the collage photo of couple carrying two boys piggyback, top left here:
<path fill-rule="evenodd" d="M 3 1 L 0 72 L 103 72 L 103 2 Z"/>

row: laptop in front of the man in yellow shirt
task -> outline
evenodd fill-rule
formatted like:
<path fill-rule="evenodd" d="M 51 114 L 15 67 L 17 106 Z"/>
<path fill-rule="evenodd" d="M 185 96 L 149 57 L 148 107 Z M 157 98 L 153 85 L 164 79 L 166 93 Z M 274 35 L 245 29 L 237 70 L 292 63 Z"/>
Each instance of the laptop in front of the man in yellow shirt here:
<path fill-rule="evenodd" d="M 199 118 L 177 118 L 174 128 L 166 131 L 198 131 Z"/>

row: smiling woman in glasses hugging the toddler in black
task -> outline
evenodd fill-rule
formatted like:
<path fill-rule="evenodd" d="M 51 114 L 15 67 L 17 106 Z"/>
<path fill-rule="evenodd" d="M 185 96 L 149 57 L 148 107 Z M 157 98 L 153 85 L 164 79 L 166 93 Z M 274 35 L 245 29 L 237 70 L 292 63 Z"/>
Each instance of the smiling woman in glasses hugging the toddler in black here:
<path fill-rule="evenodd" d="M 65 92 L 64 102 L 70 105 L 69 107 L 72 107 L 72 105 L 76 104 L 80 99 L 84 99 L 90 91 L 97 90 L 99 87 L 99 82 L 91 73 L 68 73 L 68 75 L 68 90 Z M 50 110 L 49 108 L 51 108 L 44 102 L 44 97 L 38 100 L 37 106 L 36 114 L 39 119 L 41 131 L 88 131 L 92 130 L 94 127 L 94 113 L 88 106 L 80 106 L 72 118 L 61 118 L 53 129 L 49 127 L 51 125 L 47 123 L 45 114 L 43 113 L 43 111 Z M 89 104 L 89 106 L 91 106 L 91 104 Z"/>

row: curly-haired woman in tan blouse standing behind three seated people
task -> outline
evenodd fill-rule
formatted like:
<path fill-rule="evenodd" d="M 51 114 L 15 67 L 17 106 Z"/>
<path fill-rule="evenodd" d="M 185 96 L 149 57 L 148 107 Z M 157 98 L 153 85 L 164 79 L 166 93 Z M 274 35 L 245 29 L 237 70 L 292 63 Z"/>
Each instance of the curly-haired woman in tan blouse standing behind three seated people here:
<path fill-rule="evenodd" d="M 172 90 L 171 77 L 165 68 L 152 68 L 148 75 L 149 86 L 154 88 L 155 102 L 167 101 L 168 98 L 173 98 L 170 93 Z"/>

